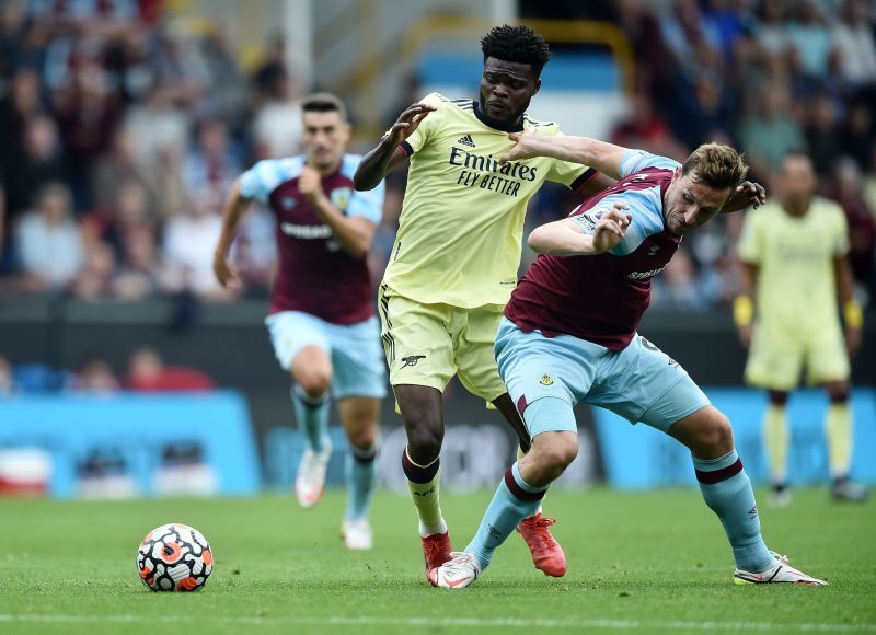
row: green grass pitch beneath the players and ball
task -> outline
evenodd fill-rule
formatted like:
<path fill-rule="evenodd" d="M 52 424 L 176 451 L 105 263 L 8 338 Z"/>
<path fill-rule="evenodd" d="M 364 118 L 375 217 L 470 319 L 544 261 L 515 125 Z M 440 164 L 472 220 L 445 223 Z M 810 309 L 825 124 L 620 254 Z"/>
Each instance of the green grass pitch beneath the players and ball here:
<path fill-rule="evenodd" d="M 310 511 L 278 496 L 3 500 L 0 633 L 876 632 L 876 505 L 795 495 L 789 508 L 762 506 L 768 543 L 830 587 L 733 585 L 724 533 L 695 490 L 552 493 L 566 577 L 542 576 L 511 536 L 460 591 L 428 586 L 411 504 L 387 493 L 367 553 L 341 545 L 341 493 Z M 488 497 L 445 497 L 458 549 Z M 140 539 L 169 521 L 212 544 L 199 593 L 152 593 L 137 576 Z"/>

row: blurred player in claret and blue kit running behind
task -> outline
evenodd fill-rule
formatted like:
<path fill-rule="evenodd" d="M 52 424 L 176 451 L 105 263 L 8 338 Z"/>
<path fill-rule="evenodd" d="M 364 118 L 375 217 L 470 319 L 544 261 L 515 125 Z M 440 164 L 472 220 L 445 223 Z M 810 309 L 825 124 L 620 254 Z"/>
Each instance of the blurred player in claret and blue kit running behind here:
<path fill-rule="evenodd" d="M 350 443 L 344 540 L 350 549 L 370 549 L 368 509 L 385 370 L 366 254 L 380 222 L 383 188 L 354 190 L 360 157 L 344 153 L 350 126 L 341 100 L 318 93 L 302 109 L 304 154 L 261 161 L 237 180 L 214 268 L 222 285 L 238 284 L 228 253 L 240 218 L 252 200 L 269 205 L 277 217 L 280 264 L 265 323 L 277 359 L 295 382 L 292 404 L 307 441 L 296 495 L 308 508 L 323 493 L 332 453 L 331 388 Z"/>

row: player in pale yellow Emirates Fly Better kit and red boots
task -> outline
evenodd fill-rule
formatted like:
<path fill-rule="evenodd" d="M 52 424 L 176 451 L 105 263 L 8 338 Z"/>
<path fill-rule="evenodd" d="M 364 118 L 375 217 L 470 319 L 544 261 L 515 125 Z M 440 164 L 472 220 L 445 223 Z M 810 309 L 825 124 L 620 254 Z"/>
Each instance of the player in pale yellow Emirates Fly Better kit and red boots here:
<path fill-rule="evenodd" d="M 526 26 L 495 27 L 481 44 L 480 97 L 451 101 L 433 93 L 412 105 L 355 177 L 357 188 L 368 189 L 411 159 L 378 310 L 390 383 L 407 431 L 402 464 L 427 570 L 451 551 L 439 505 L 438 454 L 442 392 L 453 374 L 493 403 L 528 444 L 493 356 L 502 310 L 517 282 L 527 203 L 545 180 L 586 192 L 609 183 L 587 166 L 551 158 L 498 164 L 496 158 L 512 146 L 509 131 L 560 134 L 555 124 L 526 114 L 550 50 Z M 548 529 L 552 522 L 535 508 L 520 533 L 535 566 L 562 576 L 565 557 Z"/>

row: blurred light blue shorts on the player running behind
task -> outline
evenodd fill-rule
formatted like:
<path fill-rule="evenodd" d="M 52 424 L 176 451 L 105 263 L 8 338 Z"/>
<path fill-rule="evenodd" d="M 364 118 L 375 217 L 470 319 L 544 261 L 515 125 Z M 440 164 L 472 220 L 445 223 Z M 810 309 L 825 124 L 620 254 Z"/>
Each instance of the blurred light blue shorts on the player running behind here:
<path fill-rule="evenodd" d="M 332 357 L 332 396 L 382 399 L 387 368 L 376 316 L 356 324 L 332 324 L 310 313 L 281 311 L 265 319 L 277 361 L 285 370 L 306 346 L 319 346 Z"/>

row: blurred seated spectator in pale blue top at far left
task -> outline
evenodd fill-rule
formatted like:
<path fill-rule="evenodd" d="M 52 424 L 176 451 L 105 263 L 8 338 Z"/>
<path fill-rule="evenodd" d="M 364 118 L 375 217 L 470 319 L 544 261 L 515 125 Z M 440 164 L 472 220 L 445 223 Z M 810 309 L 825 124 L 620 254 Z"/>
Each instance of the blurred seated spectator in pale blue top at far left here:
<path fill-rule="evenodd" d="M 25 288 L 64 290 L 79 274 L 84 247 L 72 216 L 72 195 L 61 183 L 46 185 L 37 207 L 21 219 L 15 232 Z"/>

